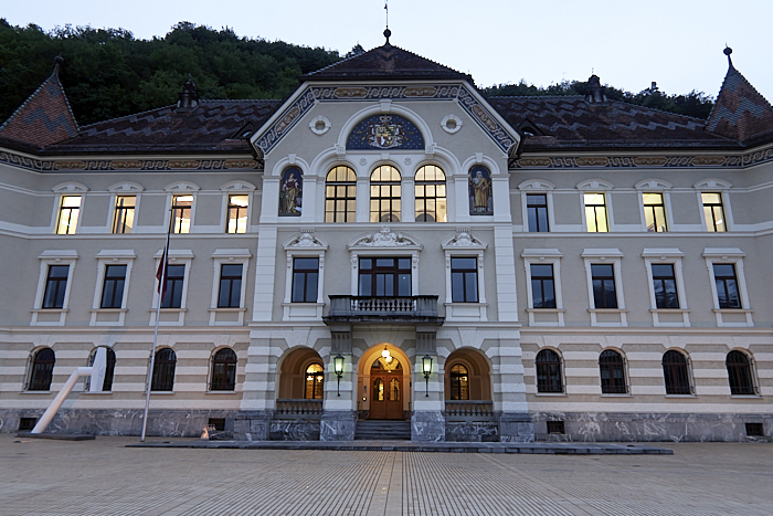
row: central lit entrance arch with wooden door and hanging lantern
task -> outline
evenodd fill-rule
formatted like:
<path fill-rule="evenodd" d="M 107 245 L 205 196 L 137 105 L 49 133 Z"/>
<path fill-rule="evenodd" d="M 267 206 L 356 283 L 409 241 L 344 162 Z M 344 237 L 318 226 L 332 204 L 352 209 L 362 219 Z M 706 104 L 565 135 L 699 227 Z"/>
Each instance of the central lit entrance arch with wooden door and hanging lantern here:
<path fill-rule="evenodd" d="M 389 344 L 373 346 L 360 358 L 360 419 L 404 420 L 411 410 L 411 362 Z"/>

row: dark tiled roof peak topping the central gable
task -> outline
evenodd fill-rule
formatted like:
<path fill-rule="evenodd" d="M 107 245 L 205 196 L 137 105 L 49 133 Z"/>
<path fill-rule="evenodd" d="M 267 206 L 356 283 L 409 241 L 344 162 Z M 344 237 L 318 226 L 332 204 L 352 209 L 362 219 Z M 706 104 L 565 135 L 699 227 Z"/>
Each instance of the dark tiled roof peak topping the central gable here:
<path fill-rule="evenodd" d="M 391 31 L 384 31 L 386 43 L 300 77 L 301 81 L 372 81 L 372 80 L 466 80 L 457 72 L 426 57 L 393 46 Z"/>

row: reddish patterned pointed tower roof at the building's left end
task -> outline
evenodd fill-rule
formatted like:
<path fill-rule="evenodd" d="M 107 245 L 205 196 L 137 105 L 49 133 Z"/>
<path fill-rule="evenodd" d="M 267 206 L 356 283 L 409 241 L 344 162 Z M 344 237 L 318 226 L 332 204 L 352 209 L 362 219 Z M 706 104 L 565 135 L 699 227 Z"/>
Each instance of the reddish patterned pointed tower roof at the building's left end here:
<path fill-rule="evenodd" d="M 54 60 L 54 72 L 24 104 L 0 126 L 0 137 L 35 147 L 45 147 L 78 135 L 77 123 L 59 81 L 61 55 Z"/>

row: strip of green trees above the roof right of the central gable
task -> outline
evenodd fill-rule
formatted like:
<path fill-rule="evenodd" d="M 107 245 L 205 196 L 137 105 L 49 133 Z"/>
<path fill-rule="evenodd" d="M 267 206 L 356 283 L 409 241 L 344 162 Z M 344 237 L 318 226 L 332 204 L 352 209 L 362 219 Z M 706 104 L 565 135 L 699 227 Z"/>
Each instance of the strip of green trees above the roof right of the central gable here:
<path fill-rule="evenodd" d="M 703 92 L 691 91 L 687 95 L 666 95 L 658 89 L 657 84 L 639 93 L 625 92 L 616 87 L 605 87 L 606 98 L 610 101 L 622 101 L 637 106 L 650 107 L 664 112 L 687 115 L 695 118 L 706 119 L 711 114 L 713 98 Z M 499 84 L 483 89 L 488 96 L 544 96 L 544 95 L 585 95 L 587 91 L 586 81 L 562 81 L 551 84 L 548 87 L 534 86 L 520 80 L 518 84 Z"/>

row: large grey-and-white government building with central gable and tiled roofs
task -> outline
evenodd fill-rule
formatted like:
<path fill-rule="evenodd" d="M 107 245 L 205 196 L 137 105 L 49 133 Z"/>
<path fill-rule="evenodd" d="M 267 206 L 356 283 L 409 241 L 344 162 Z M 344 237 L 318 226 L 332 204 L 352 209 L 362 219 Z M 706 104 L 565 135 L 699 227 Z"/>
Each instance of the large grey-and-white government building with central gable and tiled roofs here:
<path fill-rule="evenodd" d="M 0 431 L 105 347 L 50 432 L 139 435 L 155 354 L 149 435 L 770 439 L 773 107 L 726 53 L 706 120 L 388 36 L 88 126 L 59 59 L 0 126 Z"/>

